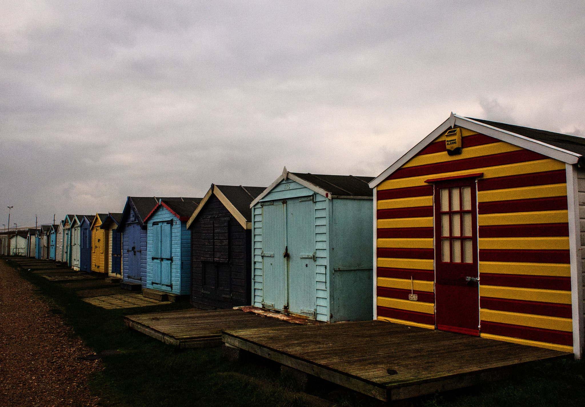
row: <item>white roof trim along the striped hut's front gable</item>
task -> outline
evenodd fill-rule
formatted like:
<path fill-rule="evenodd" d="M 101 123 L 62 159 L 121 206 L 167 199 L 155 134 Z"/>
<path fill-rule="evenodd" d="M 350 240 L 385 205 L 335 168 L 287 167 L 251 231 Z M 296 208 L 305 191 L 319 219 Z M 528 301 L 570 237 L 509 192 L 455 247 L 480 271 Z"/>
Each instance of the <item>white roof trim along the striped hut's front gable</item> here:
<path fill-rule="evenodd" d="M 520 134 L 508 132 L 507 130 L 498 129 L 497 127 L 486 125 L 484 123 L 476 122 L 475 120 L 464 118 L 463 116 L 451 113 L 449 119 L 441 123 L 439 127 L 433 130 L 428 136 L 421 140 L 416 146 L 412 147 L 404 156 L 398 158 L 394 164 L 390 165 L 383 173 L 378 175 L 376 178 L 370 181 L 370 188 L 377 187 L 382 181 L 386 180 L 394 171 L 402 167 L 408 160 L 418 154 L 422 149 L 431 144 L 436 137 L 440 136 L 445 130 L 453 126 L 464 127 L 474 132 L 486 134 L 486 136 L 494 137 L 494 139 L 501 140 L 513 144 L 514 146 L 522 147 L 523 149 L 535 151 L 535 153 L 543 154 L 555 160 L 563 161 L 567 164 L 576 164 L 580 154 L 573 153 L 573 151 L 567 151 L 559 149 L 559 147 L 551 146 L 538 140 L 530 139 L 529 137 L 521 136 Z"/>

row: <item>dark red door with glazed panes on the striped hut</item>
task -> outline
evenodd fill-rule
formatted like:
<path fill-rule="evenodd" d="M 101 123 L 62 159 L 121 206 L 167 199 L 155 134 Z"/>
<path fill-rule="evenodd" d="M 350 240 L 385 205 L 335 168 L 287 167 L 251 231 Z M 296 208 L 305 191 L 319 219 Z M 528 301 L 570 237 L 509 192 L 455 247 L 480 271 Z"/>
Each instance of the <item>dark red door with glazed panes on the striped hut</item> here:
<path fill-rule="evenodd" d="M 438 329 L 479 335 L 475 178 L 435 183 L 435 318 Z"/>

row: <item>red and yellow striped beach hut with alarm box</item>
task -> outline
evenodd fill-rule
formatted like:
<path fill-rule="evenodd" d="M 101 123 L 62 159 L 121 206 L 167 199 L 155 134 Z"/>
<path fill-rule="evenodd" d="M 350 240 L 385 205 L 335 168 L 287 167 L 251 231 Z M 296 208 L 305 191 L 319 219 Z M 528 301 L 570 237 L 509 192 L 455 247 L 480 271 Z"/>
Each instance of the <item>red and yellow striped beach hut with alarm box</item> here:
<path fill-rule="evenodd" d="M 370 182 L 374 318 L 580 357 L 583 156 L 581 137 L 451 113 Z"/>

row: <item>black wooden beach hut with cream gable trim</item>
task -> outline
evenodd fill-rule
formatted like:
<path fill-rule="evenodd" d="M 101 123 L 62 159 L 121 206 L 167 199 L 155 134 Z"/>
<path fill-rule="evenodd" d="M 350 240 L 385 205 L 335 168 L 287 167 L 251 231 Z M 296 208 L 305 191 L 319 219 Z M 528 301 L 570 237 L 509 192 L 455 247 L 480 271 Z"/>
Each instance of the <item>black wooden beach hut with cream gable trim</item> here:
<path fill-rule="evenodd" d="M 191 303 L 216 309 L 250 305 L 252 209 L 266 187 L 215 185 L 187 222 L 191 230 Z"/>

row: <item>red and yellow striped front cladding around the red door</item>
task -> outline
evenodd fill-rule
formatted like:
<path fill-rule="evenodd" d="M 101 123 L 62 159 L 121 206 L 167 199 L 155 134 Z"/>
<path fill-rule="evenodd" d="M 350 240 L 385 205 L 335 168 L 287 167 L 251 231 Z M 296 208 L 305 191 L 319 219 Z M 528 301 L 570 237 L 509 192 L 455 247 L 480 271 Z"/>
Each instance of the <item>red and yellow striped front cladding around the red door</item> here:
<path fill-rule="evenodd" d="M 462 130 L 462 154 L 448 156 L 439 136 L 377 187 L 378 319 L 435 327 L 433 188 L 425 181 L 483 173 L 477 179 L 481 334 L 570 350 L 565 163 Z M 580 203 L 585 214 L 585 199 Z M 411 287 L 418 301 L 408 301 Z"/>

